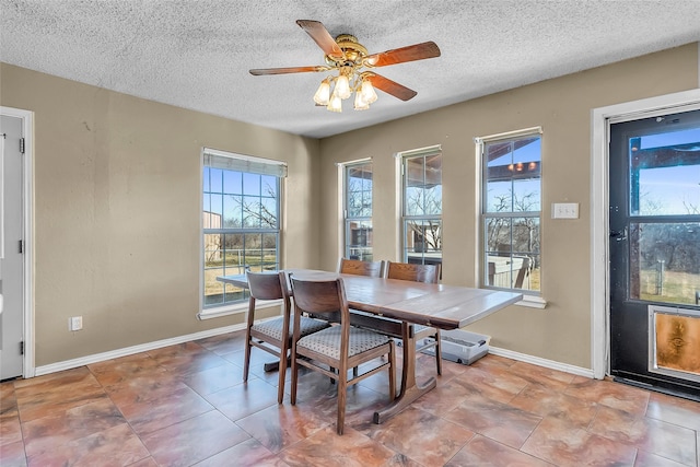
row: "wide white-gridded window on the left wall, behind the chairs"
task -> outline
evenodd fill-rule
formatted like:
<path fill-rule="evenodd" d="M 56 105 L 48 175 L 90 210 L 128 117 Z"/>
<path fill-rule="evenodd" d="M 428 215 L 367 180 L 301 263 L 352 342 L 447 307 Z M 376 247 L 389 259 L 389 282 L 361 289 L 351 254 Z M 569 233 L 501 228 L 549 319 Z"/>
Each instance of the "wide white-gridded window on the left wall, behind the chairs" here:
<path fill-rule="evenodd" d="M 279 269 L 280 185 L 277 161 L 205 149 L 202 194 L 203 308 L 247 300 L 217 276 Z"/>

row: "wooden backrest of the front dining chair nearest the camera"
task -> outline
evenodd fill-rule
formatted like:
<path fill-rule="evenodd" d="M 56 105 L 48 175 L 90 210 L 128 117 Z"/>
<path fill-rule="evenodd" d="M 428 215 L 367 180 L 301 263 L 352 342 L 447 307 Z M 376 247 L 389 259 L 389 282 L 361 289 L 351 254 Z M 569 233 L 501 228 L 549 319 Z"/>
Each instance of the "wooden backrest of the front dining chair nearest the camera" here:
<path fill-rule="evenodd" d="M 296 314 L 328 315 L 340 312 L 341 322 L 349 316 L 348 299 L 341 278 L 331 280 L 304 280 L 290 277 Z"/>

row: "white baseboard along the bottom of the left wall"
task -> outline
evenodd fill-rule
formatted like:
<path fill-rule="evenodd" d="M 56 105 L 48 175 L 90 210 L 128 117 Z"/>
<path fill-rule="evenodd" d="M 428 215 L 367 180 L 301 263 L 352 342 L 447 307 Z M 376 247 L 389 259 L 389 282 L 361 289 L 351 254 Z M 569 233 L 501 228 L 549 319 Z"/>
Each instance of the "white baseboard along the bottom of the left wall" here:
<path fill-rule="evenodd" d="M 246 324 L 237 324 L 232 326 L 220 327 L 215 329 L 203 330 L 201 332 L 188 334 L 186 336 L 172 337 L 170 339 L 156 340 L 154 342 L 141 343 L 139 346 L 125 347 L 124 349 L 110 350 L 103 353 L 94 353 L 92 355 L 85 355 L 78 359 L 66 360 L 62 362 L 56 362 L 44 366 L 37 366 L 35 369 L 35 376 L 40 376 L 49 373 L 56 373 L 63 370 L 71 370 L 78 366 L 89 365 L 91 363 L 104 362 L 105 360 L 118 359 L 120 357 L 132 355 L 139 352 L 147 352 L 149 350 L 161 349 L 167 346 L 175 346 L 177 343 L 189 342 L 190 340 L 203 339 L 207 337 L 219 336 L 226 332 L 233 332 L 236 330 L 245 329 Z"/>

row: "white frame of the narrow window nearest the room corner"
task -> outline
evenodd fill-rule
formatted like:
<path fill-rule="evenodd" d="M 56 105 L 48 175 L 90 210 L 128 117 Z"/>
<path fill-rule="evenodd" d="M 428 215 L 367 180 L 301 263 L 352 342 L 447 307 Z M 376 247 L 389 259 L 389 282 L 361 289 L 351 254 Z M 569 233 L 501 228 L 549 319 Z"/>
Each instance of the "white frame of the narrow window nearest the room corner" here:
<path fill-rule="evenodd" d="M 366 260 L 366 261 L 371 261 L 373 260 L 374 257 L 374 247 L 373 247 L 373 242 L 371 238 L 371 234 L 365 234 L 366 235 L 366 241 L 365 241 L 365 245 L 363 250 L 369 250 L 370 254 L 369 255 L 361 255 L 359 258 L 355 257 L 357 255 L 352 255 L 352 224 L 353 223 L 360 223 L 360 224 L 364 224 L 366 226 L 366 224 L 369 223 L 369 229 L 370 231 L 372 231 L 373 229 L 373 221 L 372 221 L 372 215 L 373 215 L 373 208 L 374 208 L 374 177 L 372 177 L 372 186 L 370 188 L 370 214 L 369 215 L 352 215 L 352 209 L 350 209 L 349 207 L 349 202 L 350 202 L 350 171 L 352 168 L 358 168 L 358 167 L 362 167 L 362 166 L 370 166 L 370 172 L 372 173 L 373 171 L 373 162 L 372 162 L 372 157 L 366 157 L 366 159 L 361 159 L 361 160 L 357 160 L 357 161 L 351 161 L 351 162 L 346 162 L 342 164 L 338 164 L 338 166 L 341 170 L 341 194 L 342 194 L 342 252 L 343 252 L 343 257 L 346 258 L 351 258 L 351 259 L 361 259 L 361 260 Z M 360 190 L 362 194 L 365 194 L 366 190 Z M 363 197 L 364 199 L 364 197 Z M 364 226 L 362 229 L 365 229 Z"/>

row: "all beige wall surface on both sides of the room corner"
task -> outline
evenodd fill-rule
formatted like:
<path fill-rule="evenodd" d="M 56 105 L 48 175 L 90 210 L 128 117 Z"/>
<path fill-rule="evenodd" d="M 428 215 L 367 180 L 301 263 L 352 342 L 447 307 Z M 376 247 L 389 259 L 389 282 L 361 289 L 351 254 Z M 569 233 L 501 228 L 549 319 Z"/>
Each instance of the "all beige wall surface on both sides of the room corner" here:
<path fill-rule="evenodd" d="M 549 306 L 512 306 L 471 330 L 497 347 L 590 367 L 591 109 L 697 87 L 698 56 L 688 45 L 320 141 L 2 63 L 0 104 L 35 113 L 35 363 L 242 322 L 196 319 L 202 147 L 287 161 L 284 265 L 334 269 L 335 163 L 373 157 L 375 254 L 398 259 L 394 153 L 441 144 L 444 281 L 474 285 L 472 138 L 542 126 Z M 579 202 L 580 219 L 549 219 L 556 201 Z M 70 332 L 75 315 L 84 329 Z"/>

